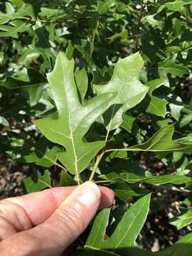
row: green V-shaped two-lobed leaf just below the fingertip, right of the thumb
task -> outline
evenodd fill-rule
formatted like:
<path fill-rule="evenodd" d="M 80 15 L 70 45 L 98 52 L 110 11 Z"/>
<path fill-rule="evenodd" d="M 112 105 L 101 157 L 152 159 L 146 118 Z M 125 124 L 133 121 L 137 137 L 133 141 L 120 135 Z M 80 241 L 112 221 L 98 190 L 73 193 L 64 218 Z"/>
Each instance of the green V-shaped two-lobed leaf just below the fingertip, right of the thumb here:
<path fill-rule="evenodd" d="M 104 236 L 109 220 L 110 209 L 102 210 L 95 219 L 85 247 L 95 250 L 107 250 L 115 253 L 116 250 L 120 248 L 134 246 L 135 240 L 142 230 L 144 221 L 146 220 L 149 211 L 150 198 L 151 195 L 148 194 L 134 203 L 124 214 L 122 220 L 108 240 L 104 240 Z"/>

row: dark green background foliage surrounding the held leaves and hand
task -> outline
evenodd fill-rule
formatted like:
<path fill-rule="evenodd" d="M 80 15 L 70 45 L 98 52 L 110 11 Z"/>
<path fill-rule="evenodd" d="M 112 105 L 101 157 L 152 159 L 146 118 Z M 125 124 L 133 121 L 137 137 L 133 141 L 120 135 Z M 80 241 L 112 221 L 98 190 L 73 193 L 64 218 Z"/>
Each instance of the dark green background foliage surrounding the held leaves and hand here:
<path fill-rule="evenodd" d="M 33 124 L 55 108 L 46 73 L 53 70 L 60 50 L 75 59 L 76 71 L 87 70 L 87 99 L 92 97 L 92 84 L 110 80 L 119 58 L 137 51 L 145 63 L 139 79 L 149 86 L 150 80 L 159 79 L 144 100 L 124 114 L 121 129 L 110 134 L 111 145 L 141 144 L 167 124 L 175 126 L 174 139 L 187 136 L 186 142 L 192 142 L 191 4 L 184 0 L 1 1 L 1 198 L 75 183 L 63 171 L 60 175 L 62 166 L 55 156 L 60 148 Z M 87 137 L 104 135 L 105 128 L 96 123 Z M 122 171 L 122 164 L 138 176 L 192 176 L 192 155 L 182 152 L 163 159 L 151 153 L 110 154 L 98 171 Z M 114 226 L 135 198 L 154 192 L 149 217 L 137 239 L 153 251 L 171 245 L 192 228 L 192 182 L 161 184 L 110 184 L 117 196 Z"/>

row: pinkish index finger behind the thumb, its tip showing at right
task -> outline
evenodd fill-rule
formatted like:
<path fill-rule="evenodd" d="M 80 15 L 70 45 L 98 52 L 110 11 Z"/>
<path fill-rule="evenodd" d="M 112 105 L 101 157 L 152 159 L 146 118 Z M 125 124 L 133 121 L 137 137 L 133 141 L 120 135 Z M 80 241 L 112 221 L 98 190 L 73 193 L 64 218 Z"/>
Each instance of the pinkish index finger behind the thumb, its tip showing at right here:
<path fill-rule="evenodd" d="M 75 188 L 76 186 L 50 188 L 0 201 L 0 240 L 43 223 Z M 113 192 L 105 187 L 100 187 L 100 190 L 102 194 L 100 208 L 112 205 Z"/>

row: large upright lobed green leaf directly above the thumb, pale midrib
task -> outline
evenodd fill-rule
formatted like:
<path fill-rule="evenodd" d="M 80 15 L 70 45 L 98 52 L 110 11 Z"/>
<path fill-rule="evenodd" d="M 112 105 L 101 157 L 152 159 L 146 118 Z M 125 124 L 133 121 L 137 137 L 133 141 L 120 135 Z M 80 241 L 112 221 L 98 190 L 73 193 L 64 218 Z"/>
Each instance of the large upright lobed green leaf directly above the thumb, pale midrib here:
<path fill-rule="evenodd" d="M 57 154 L 58 159 L 71 174 L 78 176 L 104 145 L 102 141 L 82 142 L 82 137 L 95 119 L 110 107 L 114 95 L 105 93 L 81 105 L 73 70 L 74 60 L 60 53 L 53 72 L 48 74 L 58 119 L 47 117 L 34 123 L 51 142 L 65 147 L 65 152 Z"/>

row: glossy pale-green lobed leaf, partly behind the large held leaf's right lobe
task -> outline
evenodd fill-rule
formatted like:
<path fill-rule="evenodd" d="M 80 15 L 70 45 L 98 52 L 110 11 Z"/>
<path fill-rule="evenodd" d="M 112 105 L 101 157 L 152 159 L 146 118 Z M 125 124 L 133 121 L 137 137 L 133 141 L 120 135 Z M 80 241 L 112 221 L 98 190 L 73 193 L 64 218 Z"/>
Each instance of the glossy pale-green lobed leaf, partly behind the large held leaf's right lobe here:
<path fill-rule="evenodd" d="M 114 73 L 106 85 L 93 85 L 97 94 L 117 92 L 113 106 L 104 115 L 107 130 L 117 128 L 122 124 L 122 114 L 141 102 L 148 87 L 139 81 L 139 72 L 144 61 L 139 53 L 119 60 L 114 66 Z"/>

